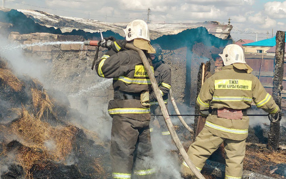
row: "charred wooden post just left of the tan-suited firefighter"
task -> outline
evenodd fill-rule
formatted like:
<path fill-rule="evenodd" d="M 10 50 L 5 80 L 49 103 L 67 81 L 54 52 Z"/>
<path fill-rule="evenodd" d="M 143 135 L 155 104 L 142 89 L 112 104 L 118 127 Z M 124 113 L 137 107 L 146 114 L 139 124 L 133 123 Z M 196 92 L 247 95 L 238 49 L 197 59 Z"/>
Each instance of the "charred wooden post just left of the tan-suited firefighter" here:
<path fill-rule="evenodd" d="M 203 69 L 204 67 L 204 69 Z M 197 96 L 199 95 L 199 92 L 201 90 L 203 82 L 207 79 L 205 78 L 205 75 L 211 71 L 211 62 L 208 61 L 206 64 L 202 63 L 199 69 L 198 73 L 198 82 L 197 82 Z M 195 106 L 195 114 L 199 114 L 199 109 L 197 106 Z M 202 131 L 205 125 L 205 119 L 202 116 L 195 116 L 195 122 L 194 122 L 194 131 L 195 135 L 193 136 L 193 141 L 195 141 L 195 137 Z"/>

